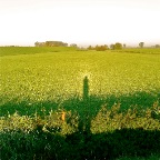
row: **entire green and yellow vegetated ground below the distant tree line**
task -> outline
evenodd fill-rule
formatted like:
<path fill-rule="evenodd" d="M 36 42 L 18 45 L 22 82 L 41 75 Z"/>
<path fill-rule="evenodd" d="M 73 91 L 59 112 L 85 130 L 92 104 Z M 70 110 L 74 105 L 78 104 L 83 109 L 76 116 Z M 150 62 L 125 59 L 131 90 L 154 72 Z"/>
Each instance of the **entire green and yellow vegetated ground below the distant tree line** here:
<path fill-rule="evenodd" d="M 160 49 L 0 54 L 2 160 L 160 158 Z"/>

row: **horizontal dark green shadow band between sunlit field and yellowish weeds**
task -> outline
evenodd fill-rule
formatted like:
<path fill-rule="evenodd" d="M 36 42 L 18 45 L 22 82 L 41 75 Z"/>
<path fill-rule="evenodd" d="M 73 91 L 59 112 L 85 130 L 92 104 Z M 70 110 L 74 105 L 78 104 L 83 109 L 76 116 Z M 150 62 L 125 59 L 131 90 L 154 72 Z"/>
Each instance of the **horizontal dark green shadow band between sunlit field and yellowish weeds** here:
<path fill-rule="evenodd" d="M 156 101 L 160 102 L 160 93 L 143 91 L 121 96 L 90 96 L 87 102 L 80 97 L 71 97 L 67 100 L 59 99 L 39 102 L 29 100 L 19 101 L 19 98 L 16 98 L 0 106 L 0 117 L 7 117 L 14 112 L 18 112 L 20 116 L 33 116 L 36 112 L 39 116 L 43 116 L 49 114 L 51 110 L 58 109 L 77 112 L 82 112 L 87 109 L 92 114 L 97 114 L 102 104 L 107 104 L 108 108 L 111 108 L 114 103 L 120 103 L 120 110 L 124 111 L 136 106 L 138 109 L 146 109 L 152 107 Z"/>

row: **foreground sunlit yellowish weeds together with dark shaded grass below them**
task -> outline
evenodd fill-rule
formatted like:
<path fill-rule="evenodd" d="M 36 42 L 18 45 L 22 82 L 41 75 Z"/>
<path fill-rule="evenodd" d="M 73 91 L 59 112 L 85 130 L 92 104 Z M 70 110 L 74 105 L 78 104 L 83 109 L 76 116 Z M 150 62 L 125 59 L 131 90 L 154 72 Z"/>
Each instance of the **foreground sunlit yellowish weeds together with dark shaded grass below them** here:
<path fill-rule="evenodd" d="M 160 107 L 120 111 L 102 106 L 93 113 L 66 110 L 34 117 L 3 117 L 1 159 L 149 159 L 159 158 Z M 82 106 L 81 106 L 82 107 Z M 62 119 L 62 113 L 66 118 Z"/>

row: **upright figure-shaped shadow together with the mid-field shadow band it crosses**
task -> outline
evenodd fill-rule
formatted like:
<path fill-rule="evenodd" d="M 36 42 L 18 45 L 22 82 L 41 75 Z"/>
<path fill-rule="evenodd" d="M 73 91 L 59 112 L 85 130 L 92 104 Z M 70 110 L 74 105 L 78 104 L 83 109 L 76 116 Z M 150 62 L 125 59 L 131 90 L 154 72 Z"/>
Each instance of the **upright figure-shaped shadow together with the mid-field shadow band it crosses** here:
<path fill-rule="evenodd" d="M 127 112 L 128 109 L 143 110 L 146 107 L 152 107 L 154 102 L 160 102 L 159 93 L 149 92 L 134 92 L 130 94 L 121 94 L 119 97 L 110 94 L 108 97 L 93 96 L 89 92 L 89 79 L 84 77 L 83 79 L 83 94 L 82 98 L 76 96 L 67 100 L 58 101 L 41 101 L 41 102 L 30 102 L 23 100 L 17 102 L 19 98 L 12 101 L 8 101 L 0 107 L 0 117 L 9 117 L 14 113 L 19 116 L 29 116 L 34 118 L 39 116 L 42 119 L 50 114 L 50 111 L 62 111 L 64 113 L 70 112 L 69 116 L 64 117 L 63 120 L 70 124 L 74 126 L 72 120 L 77 118 L 78 127 L 76 131 L 89 134 L 91 132 L 91 121 L 98 116 L 102 106 L 107 106 L 111 109 L 116 103 L 120 104 L 119 112 Z M 157 117 L 157 114 L 156 114 Z"/>

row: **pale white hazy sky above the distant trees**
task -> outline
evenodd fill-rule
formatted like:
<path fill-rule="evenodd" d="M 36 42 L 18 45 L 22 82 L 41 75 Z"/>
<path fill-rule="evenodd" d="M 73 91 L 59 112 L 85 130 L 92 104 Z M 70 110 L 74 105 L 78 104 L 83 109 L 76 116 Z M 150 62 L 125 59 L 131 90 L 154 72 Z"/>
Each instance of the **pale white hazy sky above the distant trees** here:
<path fill-rule="evenodd" d="M 0 46 L 160 44 L 160 0 L 0 0 Z"/>

